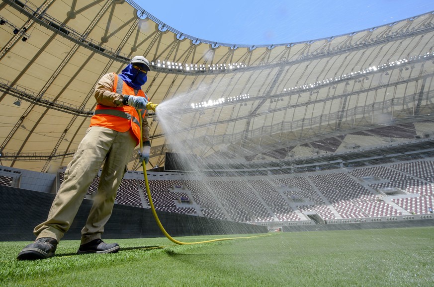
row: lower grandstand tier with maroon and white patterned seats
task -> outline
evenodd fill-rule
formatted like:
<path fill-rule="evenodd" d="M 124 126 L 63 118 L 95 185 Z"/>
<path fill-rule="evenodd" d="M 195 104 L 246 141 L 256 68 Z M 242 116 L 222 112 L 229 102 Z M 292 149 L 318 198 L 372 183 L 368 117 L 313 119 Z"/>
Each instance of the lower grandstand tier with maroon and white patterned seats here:
<path fill-rule="evenodd" d="M 157 172 L 148 176 L 158 179 L 148 182 L 156 210 L 174 214 L 266 226 L 318 224 L 318 218 L 327 224 L 369 222 L 369 218 L 405 220 L 406 216 L 432 213 L 433 164 L 434 158 L 426 158 L 347 171 L 341 168 L 234 180 L 192 180 L 188 174 Z M 25 170 L 5 170 L 9 176 L 0 171 L 0 185 L 19 187 L 27 180 Z M 34 178 L 34 173 L 29 176 Z M 116 195 L 118 205 L 150 208 L 141 176 L 127 173 Z M 61 169 L 59 182 L 54 180 L 53 184 L 60 184 L 63 177 Z M 87 191 L 88 199 L 97 192 L 98 182 L 97 176 Z"/>

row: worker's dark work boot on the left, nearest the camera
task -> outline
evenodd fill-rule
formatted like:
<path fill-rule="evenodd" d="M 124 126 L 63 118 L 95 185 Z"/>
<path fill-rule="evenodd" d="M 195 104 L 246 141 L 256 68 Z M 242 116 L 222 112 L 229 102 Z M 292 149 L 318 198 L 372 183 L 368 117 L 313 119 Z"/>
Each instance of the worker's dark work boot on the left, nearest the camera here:
<path fill-rule="evenodd" d="M 54 238 L 43 237 L 36 239 L 21 250 L 18 260 L 45 259 L 54 255 L 57 248 L 57 241 Z"/>

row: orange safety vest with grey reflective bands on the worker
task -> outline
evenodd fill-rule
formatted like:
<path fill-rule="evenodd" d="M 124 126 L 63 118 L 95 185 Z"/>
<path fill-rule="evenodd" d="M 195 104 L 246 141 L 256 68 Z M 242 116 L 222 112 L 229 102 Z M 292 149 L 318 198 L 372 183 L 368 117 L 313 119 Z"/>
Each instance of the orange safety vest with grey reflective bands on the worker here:
<path fill-rule="evenodd" d="M 125 84 L 124 81 L 114 73 L 113 92 L 123 95 L 134 95 L 134 89 Z M 139 90 L 137 96 L 144 97 L 149 101 L 148 96 Z M 140 110 L 142 114 L 142 122 L 145 121 L 146 110 Z M 140 131 L 139 115 L 135 108 L 130 106 L 123 107 L 108 107 L 97 104 L 93 116 L 90 118 L 90 126 L 98 126 L 108 128 L 117 132 L 125 133 L 132 129 L 133 134 L 137 138 L 137 144 L 140 142 L 142 135 Z"/>

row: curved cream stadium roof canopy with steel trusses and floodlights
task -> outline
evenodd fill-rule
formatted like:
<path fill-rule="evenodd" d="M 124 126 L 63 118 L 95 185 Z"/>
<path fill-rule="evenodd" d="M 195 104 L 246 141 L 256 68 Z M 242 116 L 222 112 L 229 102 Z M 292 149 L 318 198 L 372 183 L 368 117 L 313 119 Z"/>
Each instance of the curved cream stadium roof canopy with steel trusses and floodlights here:
<path fill-rule="evenodd" d="M 1 165 L 65 166 L 93 89 L 130 59 L 173 137 L 201 158 L 279 160 L 433 136 L 434 12 L 298 43 L 243 46 L 185 35 L 130 0 L 0 3 Z M 172 103 L 172 104 L 171 104 Z M 150 114 L 151 159 L 171 144 Z M 137 170 L 136 157 L 128 166 Z"/>

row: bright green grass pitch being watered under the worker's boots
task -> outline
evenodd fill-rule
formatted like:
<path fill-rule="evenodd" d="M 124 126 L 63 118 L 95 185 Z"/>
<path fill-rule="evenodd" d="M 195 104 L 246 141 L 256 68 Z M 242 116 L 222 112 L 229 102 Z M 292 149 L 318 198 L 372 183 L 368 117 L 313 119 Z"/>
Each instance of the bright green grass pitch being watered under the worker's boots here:
<path fill-rule="evenodd" d="M 198 245 L 174 245 L 165 237 L 106 242 L 118 242 L 121 250 L 76 255 L 80 242 L 64 240 L 54 257 L 36 261 L 15 259 L 29 242 L 0 242 L 0 286 L 434 284 L 434 227 L 276 232 Z"/>

